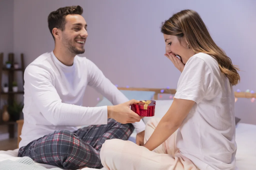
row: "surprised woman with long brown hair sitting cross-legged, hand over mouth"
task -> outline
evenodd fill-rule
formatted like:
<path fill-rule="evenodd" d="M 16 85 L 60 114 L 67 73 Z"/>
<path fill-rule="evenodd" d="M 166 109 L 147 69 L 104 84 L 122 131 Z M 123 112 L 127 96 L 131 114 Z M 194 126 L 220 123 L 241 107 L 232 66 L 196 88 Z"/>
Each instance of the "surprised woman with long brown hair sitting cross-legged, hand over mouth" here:
<path fill-rule="evenodd" d="M 106 141 L 101 149 L 103 166 L 111 170 L 235 169 L 232 86 L 240 81 L 238 69 L 193 10 L 174 14 L 161 32 L 165 56 L 182 72 L 173 103 L 160 121 L 147 123 L 143 147 L 118 139 Z"/>

